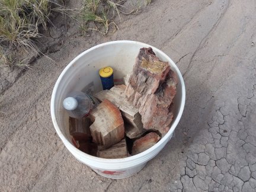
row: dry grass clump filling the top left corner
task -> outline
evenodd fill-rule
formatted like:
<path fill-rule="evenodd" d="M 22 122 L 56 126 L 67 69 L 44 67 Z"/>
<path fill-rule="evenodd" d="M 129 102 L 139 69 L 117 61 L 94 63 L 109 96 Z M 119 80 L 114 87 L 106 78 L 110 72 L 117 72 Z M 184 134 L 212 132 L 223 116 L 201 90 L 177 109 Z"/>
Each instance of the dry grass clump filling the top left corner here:
<path fill-rule="evenodd" d="M 41 37 L 39 27 L 47 28 L 52 4 L 49 0 L 0 0 L 0 63 L 26 68 L 24 60 L 14 58 L 18 47 L 37 52 L 34 40 Z"/>

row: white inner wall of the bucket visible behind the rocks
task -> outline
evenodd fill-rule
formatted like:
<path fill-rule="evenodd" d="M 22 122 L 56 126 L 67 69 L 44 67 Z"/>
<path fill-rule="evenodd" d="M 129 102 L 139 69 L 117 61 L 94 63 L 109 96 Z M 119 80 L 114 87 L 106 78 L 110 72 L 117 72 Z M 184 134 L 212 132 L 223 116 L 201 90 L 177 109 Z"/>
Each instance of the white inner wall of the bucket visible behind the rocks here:
<path fill-rule="evenodd" d="M 102 85 L 98 71 L 105 66 L 111 66 L 111 68 L 113 68 L 114 79 L 121 79 L 123 76 L 131 73 L 139 49 L 149 46 L 143 43 L 129 42 L 130 43 L 119 41 L 119 43 L 92 47 L 73 59 L 59 76 L 55 85 L 55 99 L 52 104 L 54 104 L 54 113 L 60 132 L 62 132 L 62 135 L 64 135 L 70 143 L 72 143 L 72 138 L 69 135 L 69 116 L 62 107 L 63 100 L 66 95 L 72 91 L 84 91 L 88 92 L 88 94 L 101 91 Z M 174 62 L 172 62 L 169 57 L 162 54 L 158 49 L 154 49 L 153 47 L 152 49 L 159 59 L 168 61 L 171 69 L 176 73 L 178 72 L 177 66 L 175 66 Z M 174 120 L 181 110 L 181 94 L 181 79 L 178 78 L 177 94 L 174 98 Z"/>

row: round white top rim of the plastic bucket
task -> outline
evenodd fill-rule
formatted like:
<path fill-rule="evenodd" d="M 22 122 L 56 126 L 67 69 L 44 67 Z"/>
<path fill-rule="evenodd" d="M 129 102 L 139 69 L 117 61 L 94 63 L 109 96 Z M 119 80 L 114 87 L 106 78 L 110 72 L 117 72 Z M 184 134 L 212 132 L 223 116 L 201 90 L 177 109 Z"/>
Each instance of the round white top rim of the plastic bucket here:
<path fill-rule="evenodd" d="M 155 145 L 153 145 L 151 148 L 149 148 L 146 151 L 143 151 L 141 153 L 138 153 L 137 155 L 129 156 L 129 157 L 126 157 L 126 158 L 119 158 L 119 159 L 98 158 L 97 156 L 88 155 L 87 153 L 84 153 L 84 152 L 80 151 L 79 149 L 77 149 L 75 146 L 72 145 L 71 142 L 69 142 L 68 139 L 66 139 L 66 137 L 60 131 L 59 125 L 57 124 L 56 115 L 55 115 L 56 91 L 57 91 L 57 87 L 58 87 L 60 81 L 62 81 L 62 78 L 65 75 L 65 73 L 68 71 L 69 68 L 71 68 L 73 63 L 75 63 L 78 59 L 80 59 L 80 57 L 86 55 L 87 53 L 91 52 L 94 49 L 98 49 L 99 47 L 108 46 L 110 44 L 123 44 L 123 43 L 139 44 L 142 47 L 152 47 L 154 52 L 156 51 L 156 52 L 160 53 L 163 57 L 165 57 L 168 60 L 169 65 L 171 64 L 170 66 L 175 69 L 175 71 L 177 73 L 177 76 L 181 81 L 181 93 L 182 93 L 181 94 L 181 105 L 178 108 L 177 117 L 175 118 L 174 121 L 172 121 L 171 128 L 169 129 L 167 134 L 164 137 L 162 137 L 159 140 L 159 142 L 156 143 Z M 179 123 L 179 121 L 181 119 L 181 116 L 182 116 L 183 111 L 184 111 L 184 106 L 185 106 L 185 84 L 184 84 L 184 79 L 183 79 L 183 76 L 181 75 L 181 72 L 178 69 L 177 65 L 174 63 L 174 61 L 168 55 L 166 55 L 164 52 L 157 49 L 156 47 L 151 46 L 151 45 L 146 44 L 146 43 L 142 43 L 142 42 L 139 42 L 139 41 L 132 41 L 132 40 L 117 40 L 117 41 L 108 41 L 106 43 L 101 43 L 101 44 L 98 44 L 96 46 L 93 46 L 93 47 L 85 50 L 84 52 L 80 53 L 71 62 L 69 62 L 69 64 L 65 67 L 65 69 L 63 69 L 62 73 L 60 73 L 59 78 L 57 78 L 57 81 L 55 83 L 55 87 L 53 88 L 52 98 L 51 98 L 51 102 L 50 102 L 50 112 L 51 112 L 51 116 L 52 116 L 53 126 L 55 127 L 57 135 L 59 135 L 60 139 L 62 140 L 62 142 L 64 143 L 66 148 L 68 148 L 68 150 L 72 149 L 73 152 L 78 153 L 79 156 L 83 156 L 84 158 L 87 158 L 89 161 L 95 161 L 95 162 L 101 162 L 101 163 L 121 163 L 121 162 L 135 161 L 136 159 L 140 159 L 143 156 L 149 155 L 149 153 L 155 151 L 156 148 L 159 148 L 159 146 L 161 146 L 165 142 L 165 140 L 168 140 L 168 138 L 172 136 L 172 133 L 174 132 L 175 128 L 177 127 L 177 124 Z"/>

